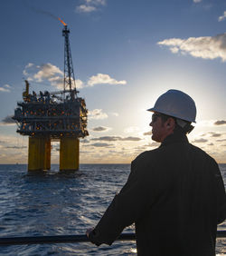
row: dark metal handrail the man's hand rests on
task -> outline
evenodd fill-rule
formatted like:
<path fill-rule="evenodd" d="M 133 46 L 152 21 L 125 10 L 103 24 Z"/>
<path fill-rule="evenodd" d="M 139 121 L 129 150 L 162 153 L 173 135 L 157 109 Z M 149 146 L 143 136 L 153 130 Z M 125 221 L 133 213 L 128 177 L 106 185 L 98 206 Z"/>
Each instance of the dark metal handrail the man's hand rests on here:
<path fill-rule="evenodd" d="M 226 238 L 226 231 L 217 231 L 218 238 Z M 135 240 L 135 233 L 122 233 L 118 241 Z M 0 238 L 0 246 L 37 244 L 37 243 L 72 243 L 89 241 L 86 235 L 55 235 L 55 236 L 33 236 L 33 237 L 4 237 Z"/>

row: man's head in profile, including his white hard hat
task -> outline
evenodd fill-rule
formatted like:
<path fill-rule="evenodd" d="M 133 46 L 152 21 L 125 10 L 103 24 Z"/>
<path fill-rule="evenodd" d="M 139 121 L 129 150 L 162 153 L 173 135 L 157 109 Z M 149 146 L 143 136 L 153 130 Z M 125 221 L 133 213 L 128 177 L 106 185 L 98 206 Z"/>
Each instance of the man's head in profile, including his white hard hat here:
<path fill-rule="evenodd" d="M 196 107 L 193 99 L 178 90 L 169 90 L 161 95 L 155 106 L 148 111 L 154 112 L 152 116 L 152 139 L 162 143 L 165 138 L 174 133 L 190 133 L 193 130 L 196 117 Z"/>

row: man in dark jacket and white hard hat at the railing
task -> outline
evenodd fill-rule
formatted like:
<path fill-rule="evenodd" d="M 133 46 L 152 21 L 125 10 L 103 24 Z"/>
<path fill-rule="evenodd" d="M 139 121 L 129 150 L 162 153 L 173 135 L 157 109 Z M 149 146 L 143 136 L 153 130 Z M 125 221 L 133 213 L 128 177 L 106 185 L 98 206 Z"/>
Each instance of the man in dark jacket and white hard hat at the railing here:
<path fill-rule="evenodd" d="M 160 147 L 141 153 L 89 240 L 110 245 L 135 222 L 140 256 L 215 255 L 217 224 L 226 218 L 218 164 L 187 140 L 193 130 L 193 99 L 178 90 L 161 95 L 148 111 L 152 139 Z"/>

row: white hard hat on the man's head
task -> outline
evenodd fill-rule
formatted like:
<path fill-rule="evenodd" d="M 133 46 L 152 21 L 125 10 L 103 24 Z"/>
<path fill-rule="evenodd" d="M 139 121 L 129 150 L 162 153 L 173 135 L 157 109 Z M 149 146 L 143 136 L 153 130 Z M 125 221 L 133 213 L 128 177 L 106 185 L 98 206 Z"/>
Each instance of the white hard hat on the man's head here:
<path fill-rule="evenodd" d="M 195 122 L 196 106 L 193 99 L 179 90 L 169 90 L 162 94 L 153 108 L 147 111 L 165 113 L 188 122 Z"/>

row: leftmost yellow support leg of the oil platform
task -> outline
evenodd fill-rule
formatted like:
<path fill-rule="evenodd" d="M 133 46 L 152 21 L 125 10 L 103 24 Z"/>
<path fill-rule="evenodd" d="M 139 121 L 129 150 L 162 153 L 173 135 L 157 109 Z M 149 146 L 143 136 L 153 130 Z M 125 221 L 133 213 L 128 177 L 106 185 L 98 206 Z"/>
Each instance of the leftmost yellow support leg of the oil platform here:
<path fill-rule="evenodd" d="M 28 171 L 43 170 L 44 152 L 44 138 L 29 137 Z"/>

